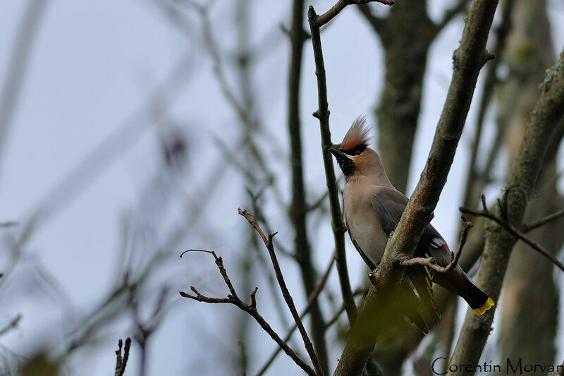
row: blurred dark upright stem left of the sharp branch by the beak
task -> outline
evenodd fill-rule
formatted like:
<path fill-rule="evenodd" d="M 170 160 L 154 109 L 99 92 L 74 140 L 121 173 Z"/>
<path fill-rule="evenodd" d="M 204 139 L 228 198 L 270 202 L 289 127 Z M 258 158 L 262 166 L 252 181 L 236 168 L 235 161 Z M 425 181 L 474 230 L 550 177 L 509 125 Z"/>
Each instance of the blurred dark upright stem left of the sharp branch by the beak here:
<path fill-rule="evenodd" d="M 295 231 L 295 257 L 300 266 L 305 294 L 309 296 L 315 289 L 315 269 L 312 262 L 311 247 L 307 234 L 307 202 L 305 199 L 302 136 L 300 134 L 300 78 L 302 73 L 303 45 L 306 32 L 302 27 L 304 0 L 293 1 L 292 27 L 290 29 L 291 56 L 288 71 L 288 132 L 290 133 L 290 166 L 292 169 L 292 203 L 290 221 Z M 327 349 L 325 344 L 325 324 L 321 308 L 314 299 L 311 306 L 312 339 L 319 363 L 324 372 L 329 372 Z"/>

